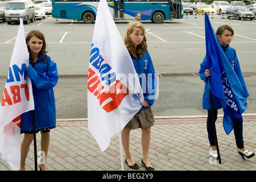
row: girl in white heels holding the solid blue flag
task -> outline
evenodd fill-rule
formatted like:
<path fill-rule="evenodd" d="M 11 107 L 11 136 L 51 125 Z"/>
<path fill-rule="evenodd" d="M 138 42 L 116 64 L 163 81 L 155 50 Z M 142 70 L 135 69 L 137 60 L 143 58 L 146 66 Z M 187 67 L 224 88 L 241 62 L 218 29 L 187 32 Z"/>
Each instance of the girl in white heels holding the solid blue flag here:
<path fill-rule="evenodd" d="M 231 48 L 229 46 L 234 35 L 233 29 L 228 25 L 223 25 L 218 28 L 216 34 L 219 39 L 219 43 L 221 44 L 221 47 L 223 48 L 223 51 L 227 57 L 227 60 L 229 60 L 230 64 L 232 65 L 235 73 L 237 74 L 239 81 L 241 82 L 242 88 L 246 96 L 248 97 L 249 93 L 247 91 L 245 81 L 243 80 L 242 72 L 241 72 L 239 61 L 237 58 L 237 53 L 235 52 L 234 48 Z M 215 139 L 213 134 L 213 121 L 211 119 L 211 104 L 210 104 L 209 81 L 208 81 L 208 77 L 211 75 L 211 73 L 210 73 L 210 70 L 207 69 L 206 57 L 201 63 L 199 75 L 201 77 L 201 80 L 205 81 L 205 92 L 203 93 L 203 109 L 208 110 L 207 132 L 208 132 L 208 138 L 210 142 L 209 155 L 217 159 L 218 154 L 217 154 L 217 148 L 215 145 Z M 222 105 L 219 98 L 214 96 L 213 96 L 213 108 L 214 108 L 213 110 L 214 119 L 216 121 L 218 109 L 221 109 Z M 246 158 L 251 158 L 252 156 L 254 156 L 254 152 L 249 152 L 248 150 L 246 150 L 246 148 L 243 145 L 243 123 L 235 119 L 233 119 L 233 122 L 234 122 L 235 141 L 237 143 L 237 152 L 242 156 L 243 159 L 245 159 L 244 156 L 246 156 Z"/>

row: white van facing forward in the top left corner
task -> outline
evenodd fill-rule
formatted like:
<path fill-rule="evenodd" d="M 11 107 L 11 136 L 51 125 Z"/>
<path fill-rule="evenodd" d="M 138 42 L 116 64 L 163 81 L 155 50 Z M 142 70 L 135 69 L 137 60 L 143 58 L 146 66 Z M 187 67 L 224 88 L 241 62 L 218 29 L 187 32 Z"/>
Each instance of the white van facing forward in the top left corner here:
<path fill-rule="evenodd" d="M 5 20 L 8 24 L 19 22 L 19 18 L 22 18 L 23 22 L 29 24 L 29 21 L 34 22 L 34 17 L 35 9 L 32 1 L 17 0 L 7 3 Z"/>

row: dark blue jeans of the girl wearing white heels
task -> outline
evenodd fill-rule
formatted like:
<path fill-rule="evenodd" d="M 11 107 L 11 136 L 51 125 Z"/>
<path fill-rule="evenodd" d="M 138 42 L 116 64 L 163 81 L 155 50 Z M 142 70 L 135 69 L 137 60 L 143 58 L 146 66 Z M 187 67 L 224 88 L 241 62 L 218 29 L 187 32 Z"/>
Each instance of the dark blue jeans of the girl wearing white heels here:
<path fill-rule="evenodd" d="M 216 121 L 218 115 L 218 110 L 213 110 L 214 121 Z M 243 122 L 233 119 L 234 123 L 234 134 L 235 134 L 235 143 L 237 148 L 244 148 L 243 146 Z M 211 146 L 215 146 L 214 132 L 213 132 L 213 121 L 211 119 L 211 110 L 208 110 L 207 117 L 207 131 L 208 138 Z M 218 135 L 217 135 L 218 136 Z"/>

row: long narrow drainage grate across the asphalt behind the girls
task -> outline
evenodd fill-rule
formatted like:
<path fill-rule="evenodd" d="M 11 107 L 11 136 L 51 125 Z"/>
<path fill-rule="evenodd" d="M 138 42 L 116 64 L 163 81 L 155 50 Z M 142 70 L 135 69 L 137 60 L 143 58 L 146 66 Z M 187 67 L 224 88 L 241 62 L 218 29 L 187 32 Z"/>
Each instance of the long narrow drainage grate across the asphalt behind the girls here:
<path fill-rule="evenodd" d="M 196 77 L 198 73 L 155 73 L 158 77 Z M 242 72 L 243 76 L 256 76 L 256 72 Z M 87 74 L 81 75 L 59 75 L 59 78 L 87 78 Z M 7 76 L 0 75 L 0 80 L 6 80 Z"/>

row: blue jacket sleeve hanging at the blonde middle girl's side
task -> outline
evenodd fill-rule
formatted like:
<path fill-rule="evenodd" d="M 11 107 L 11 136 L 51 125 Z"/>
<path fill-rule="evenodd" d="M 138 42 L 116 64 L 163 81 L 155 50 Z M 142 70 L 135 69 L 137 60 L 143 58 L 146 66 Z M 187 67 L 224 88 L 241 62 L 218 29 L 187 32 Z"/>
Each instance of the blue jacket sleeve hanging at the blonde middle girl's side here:
<path fill-rule="evenodd" d="M 157 95 L 157 76 L 155 75 L 155 69 L 150 55 L 147 57 L 147 90 L 144 93 L 144 99 L 149 102 L 149 105 L 153 105 L 155 96 Z"/>

